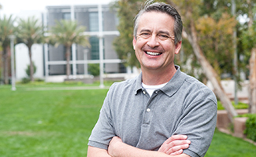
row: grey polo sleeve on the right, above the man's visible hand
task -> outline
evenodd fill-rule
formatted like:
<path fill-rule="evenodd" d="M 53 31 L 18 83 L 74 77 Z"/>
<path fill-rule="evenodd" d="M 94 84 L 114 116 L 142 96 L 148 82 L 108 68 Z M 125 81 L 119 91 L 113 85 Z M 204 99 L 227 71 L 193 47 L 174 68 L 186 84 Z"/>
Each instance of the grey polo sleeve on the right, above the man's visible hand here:
<path fill-rule="evenodd" d="M 186 134 L 191 141 L 184 153 L 194 156 L 204 156 L 213 138 L 217 121 L 217 100 L 211 91 L 198 94 L 184 108 L 174 134 Z"/>

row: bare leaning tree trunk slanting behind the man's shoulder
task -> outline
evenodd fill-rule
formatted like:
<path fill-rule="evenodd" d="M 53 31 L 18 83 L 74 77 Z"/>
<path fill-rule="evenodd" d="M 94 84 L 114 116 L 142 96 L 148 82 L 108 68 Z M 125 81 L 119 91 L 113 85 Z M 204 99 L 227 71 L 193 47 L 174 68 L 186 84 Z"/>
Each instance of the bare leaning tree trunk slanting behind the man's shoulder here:
<path fill-rule="evenodd" d="M 233 122 L 233 117 L 237 115 L 236 110 L 233 108 L 231 101 L 229 100 L 226 93 L 224 93 L 224 89 L 221 86 L 221 83 L 217 79 L 217 72 L 210 65 L 206 57 L 202 53 L 201 47 L 198 45 L 197 41 L 197 33 L 195 31 L 195 23 L 191 20 L 191 24 L 188 27 L 188 31 L 190 34 L 187 34 L 187 39 L 191 43 L 191 46 L 194 50 L 195 56 L 198 59 L 199 64 L 201 64 L 202 70 L 206 75 L 206 78 L 212 83 L 214 93 L 216 93 L 217 97 L 221 100 L 221 103 L 224 105 L 224 108 L 228 111 L 228 118 L 231 122 Z"/>

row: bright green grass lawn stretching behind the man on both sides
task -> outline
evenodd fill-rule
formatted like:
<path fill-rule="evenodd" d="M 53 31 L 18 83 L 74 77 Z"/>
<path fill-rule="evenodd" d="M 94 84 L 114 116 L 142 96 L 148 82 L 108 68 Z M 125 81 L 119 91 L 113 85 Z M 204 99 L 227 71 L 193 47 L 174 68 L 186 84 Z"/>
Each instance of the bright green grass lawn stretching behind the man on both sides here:
<path fill-rule="evenodd" d="M 0 86 L 1 157 L 86 156 L 108 89 L 38 90 L 67 86 L 77 85 Z M 255 145 L 216 131 L 206 157 L 255 155 Z"/>

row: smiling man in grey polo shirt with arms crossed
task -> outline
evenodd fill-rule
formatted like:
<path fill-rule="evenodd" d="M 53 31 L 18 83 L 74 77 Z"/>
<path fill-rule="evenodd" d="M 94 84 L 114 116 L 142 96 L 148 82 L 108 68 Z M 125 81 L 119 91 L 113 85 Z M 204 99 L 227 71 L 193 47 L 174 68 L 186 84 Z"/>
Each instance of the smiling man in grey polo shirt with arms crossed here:
<path fill-rule="evenodd" d="M 133 47 L 142 73 L 114 83 L 92 130 L 87 156 L 203 156 L 217 100 L 174 61 L 182 21 L 171 5 L 147 3 L 135 17 Z"/>

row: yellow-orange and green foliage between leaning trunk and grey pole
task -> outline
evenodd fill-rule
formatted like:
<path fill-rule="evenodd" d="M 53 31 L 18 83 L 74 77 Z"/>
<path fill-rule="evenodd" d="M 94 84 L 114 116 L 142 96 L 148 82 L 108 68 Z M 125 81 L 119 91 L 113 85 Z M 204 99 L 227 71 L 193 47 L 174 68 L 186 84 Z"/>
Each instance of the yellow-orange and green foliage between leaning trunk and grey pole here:
<path fill-rule="evenodd" d="M 218 75 L 232 71 L 233 43 L 230 41 L 236 23 L 235 18 L 223 13 L 219 20 L 202 16 L 195 24 L 199 45 Z"/>

